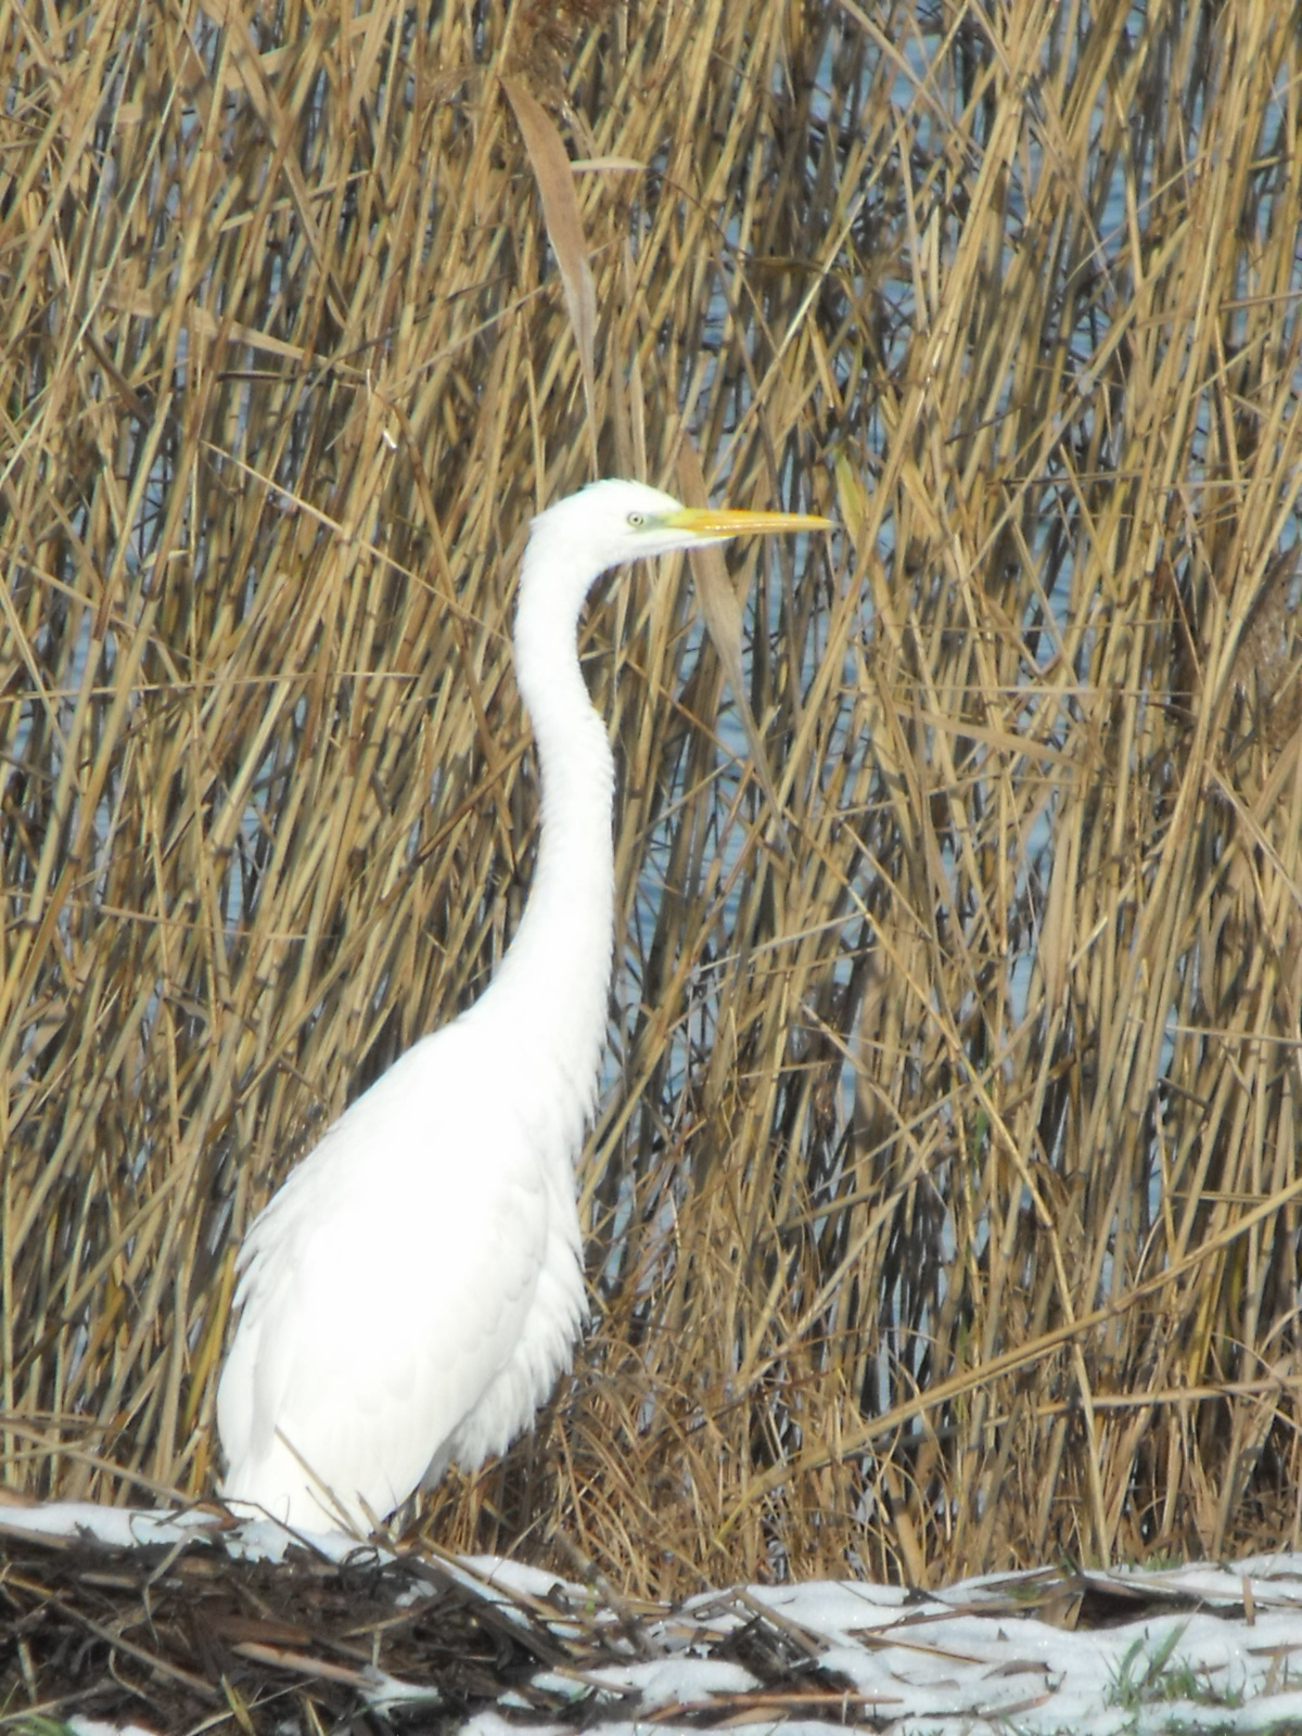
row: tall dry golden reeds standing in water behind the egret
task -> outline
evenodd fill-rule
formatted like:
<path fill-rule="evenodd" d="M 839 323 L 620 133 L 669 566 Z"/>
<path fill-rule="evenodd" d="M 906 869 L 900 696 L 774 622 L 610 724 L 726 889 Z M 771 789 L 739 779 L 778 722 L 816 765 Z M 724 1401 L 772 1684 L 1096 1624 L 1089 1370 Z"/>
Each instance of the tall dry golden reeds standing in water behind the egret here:
<path fill-rule="evenodd" d="M 528 514 L 687 431 L 845 524 L 741 552 L 792 859 L 687 575 L 611 587 L 595 1321 L 425 1522 L 661 1594 L 1297 1545 L 1297 12 L 0 56 L 9 1486 L 210 1486 L 243 1226 L 526 896 Z M 606 160 L 590 420 L 502 76 Z"/>

